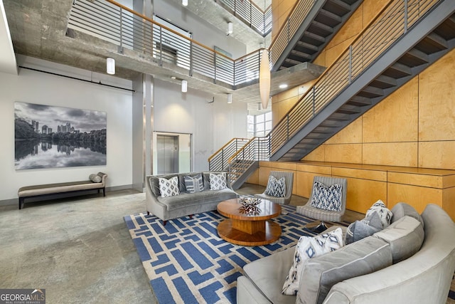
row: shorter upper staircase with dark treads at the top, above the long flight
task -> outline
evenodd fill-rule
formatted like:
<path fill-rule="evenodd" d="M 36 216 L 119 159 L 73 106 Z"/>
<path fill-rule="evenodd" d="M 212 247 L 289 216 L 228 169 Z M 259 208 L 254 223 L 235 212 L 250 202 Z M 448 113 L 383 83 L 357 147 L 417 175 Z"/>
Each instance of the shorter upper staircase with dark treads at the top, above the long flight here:
<path fill-rule="evenodd" d="M 270 46 L 273 71 L 312 62 L 361 0 L 300 0 Z"/>

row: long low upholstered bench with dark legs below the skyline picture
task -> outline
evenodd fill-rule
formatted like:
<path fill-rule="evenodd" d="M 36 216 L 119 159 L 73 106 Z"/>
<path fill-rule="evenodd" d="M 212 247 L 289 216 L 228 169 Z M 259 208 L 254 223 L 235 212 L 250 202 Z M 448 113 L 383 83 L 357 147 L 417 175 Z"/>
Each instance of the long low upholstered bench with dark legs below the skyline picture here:
<path fill-rule="evenodd" d="M 19 209 L 22 209 L 24 200 L 31 197 L 41 197 L 60 193 L 77 193 L 93 189 L 97 189 L 98 193 L 102 190 L 103 196 L 106 196 L 107 174 L 98 172 L 97 176 L 101 177 L 101 182 L 92 182 L 89 179 L 80 182 L 63 182 L 57 184 L 40 184 L 21 187 L 18 189 L 17 193 L 19 199 Z"/>

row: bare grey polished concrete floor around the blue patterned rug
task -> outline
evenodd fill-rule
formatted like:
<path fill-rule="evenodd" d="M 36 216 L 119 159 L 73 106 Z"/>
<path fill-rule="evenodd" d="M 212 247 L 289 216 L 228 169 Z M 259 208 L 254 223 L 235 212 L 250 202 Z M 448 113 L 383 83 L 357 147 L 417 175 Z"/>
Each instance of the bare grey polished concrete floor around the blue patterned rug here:
<path fill-rule="evenodd" d="M 237 192 L 263 191 L 245 184 Z M 0 288 L 45 288 L 49 304 L 156 303 L 123 220 L 144 212 L 144 199 L 125 190 L 0 206 Z M 292 205 L 305 203 L 292 197 Z"/>

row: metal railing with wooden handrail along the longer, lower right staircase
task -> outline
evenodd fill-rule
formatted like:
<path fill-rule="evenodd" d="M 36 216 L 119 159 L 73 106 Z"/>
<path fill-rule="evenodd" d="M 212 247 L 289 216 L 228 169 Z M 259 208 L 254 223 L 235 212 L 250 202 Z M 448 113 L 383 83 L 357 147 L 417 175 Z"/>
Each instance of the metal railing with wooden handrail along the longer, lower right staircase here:
<path fill-rule="evenodd" d="M 442 0 L 390 0 L 266 136 L 271 156 Z"/>

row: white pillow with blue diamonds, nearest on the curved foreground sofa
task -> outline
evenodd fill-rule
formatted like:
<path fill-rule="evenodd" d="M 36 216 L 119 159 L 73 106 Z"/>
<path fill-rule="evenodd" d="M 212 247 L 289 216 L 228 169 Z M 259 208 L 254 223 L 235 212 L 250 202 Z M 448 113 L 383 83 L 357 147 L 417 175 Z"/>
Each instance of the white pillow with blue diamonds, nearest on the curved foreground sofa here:
<path fill-rule="evenodd" d="M 343 247 L 343 231 L 341 228 L 313 237 L 301 236 L 296 245 L 291 269 L 289 269 L 286 281 L 284 281 L 282 294 L 297 294 L 300 284 L 300 274 L 306 260 L 321 256 L 323 253 L 335 251 L 340 247 Z"/>

